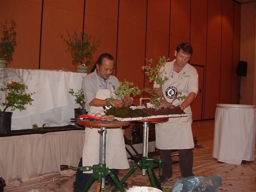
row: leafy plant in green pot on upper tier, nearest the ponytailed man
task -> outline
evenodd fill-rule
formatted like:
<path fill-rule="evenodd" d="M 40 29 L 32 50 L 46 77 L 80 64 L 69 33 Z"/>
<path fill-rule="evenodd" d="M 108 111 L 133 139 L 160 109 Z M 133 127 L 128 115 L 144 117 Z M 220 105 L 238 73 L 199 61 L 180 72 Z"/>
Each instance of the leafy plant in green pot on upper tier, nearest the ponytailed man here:
<path fill-rule="evenodd" d="M 67 30 L 66 37 L 63 34 L 59 35 L 68 45 L 66 52 L 71 53 L 72 63 L 76 66 L 76 72 L 87 73 L 92 68 L 92 54 L 99 46 L 100 40 L 96 40 L 95 36 L 84 31 L 80 34 L 75 31 L 73 35 L 70 35 Z"/>

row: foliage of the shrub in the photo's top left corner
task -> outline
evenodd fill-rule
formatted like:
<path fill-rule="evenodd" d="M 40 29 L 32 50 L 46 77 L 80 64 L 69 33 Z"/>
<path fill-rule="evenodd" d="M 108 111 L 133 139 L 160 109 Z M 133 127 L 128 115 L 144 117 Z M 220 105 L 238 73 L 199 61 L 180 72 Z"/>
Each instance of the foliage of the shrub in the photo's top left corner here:
<path fill-rule="evenodd" d="M 4 23 L 0 24 L 0 59 L 10 62 L 14 48 L 16 46 L 16 22 L 11 18 L 10 27 L 8 26 L 7 19 Z"/>

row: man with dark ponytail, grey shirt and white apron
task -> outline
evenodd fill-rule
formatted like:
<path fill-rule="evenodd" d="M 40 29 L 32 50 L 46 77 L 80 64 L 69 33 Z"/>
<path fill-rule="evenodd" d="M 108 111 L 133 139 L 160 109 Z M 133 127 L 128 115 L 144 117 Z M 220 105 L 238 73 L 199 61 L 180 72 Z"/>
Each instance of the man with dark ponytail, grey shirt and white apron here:
<path fill-rule="evenodd" d="M 118 89 L 119 81 L 112 76 L 114 70 L 114 58 L 108 53 L 99 56 L 92 72 L 84 77 L 82 89 L 86 102 L 88 114 L 99 113 L 100 110 L 109 108 L 110 105 L 116 107 L 124 106 L 124 103 L 116 98 L 115 90 Z M 108 100 L 113 97 L 114 100 Z M 92 166 L 100 163 L 100 128 L 85 128 L 85 141 L 83 156 L 78 166 Z M 106 167 L 118 179 L 119 169 L 128 169 L 129 163 L 126 155 L 124 137 L 122 129 L 108 129 L 106 136 Z M 92 171 L 77 171 L 76 181 L 74 182 L 74 192 L 82 192 Z M 106 177 L 108 185 L 114 184 L 110 176 Z M 126 183 L 122 186 L 126 187 Z"/>

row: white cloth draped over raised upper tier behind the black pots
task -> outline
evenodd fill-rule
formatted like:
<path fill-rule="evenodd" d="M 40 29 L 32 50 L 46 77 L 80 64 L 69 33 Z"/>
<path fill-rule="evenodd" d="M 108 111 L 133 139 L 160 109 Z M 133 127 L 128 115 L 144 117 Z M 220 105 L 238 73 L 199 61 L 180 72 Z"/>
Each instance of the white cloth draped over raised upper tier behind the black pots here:
<path fill-rule="evenodd" d="M 26 84 L 27 92 L 35 92 L 32 106 L 26 105 L 26 110 L 13 112 L 12 130 L 30 129 L 32 124 L 39 127 L 44 123 L 49 123 L 49 126 L 72 124 L 70 118 L 74 118 L 74 108 L 79 106 L 68 90 L 79 90 L 84 76 L 86 74 L 55 70 L 0 68 L 1 88 L 4 88 L 4 83 L 16 81 Z M 3 92 L 0 92 L 0 102 L 5 102 Z"/>

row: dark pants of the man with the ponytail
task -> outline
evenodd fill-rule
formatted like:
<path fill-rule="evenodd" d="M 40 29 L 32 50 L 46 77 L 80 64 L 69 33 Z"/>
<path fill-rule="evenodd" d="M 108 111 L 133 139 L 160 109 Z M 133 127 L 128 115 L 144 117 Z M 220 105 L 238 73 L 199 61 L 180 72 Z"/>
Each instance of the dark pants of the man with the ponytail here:
<path fill-rule="evenodd" d="M 78 164 L 78 167 L 82 166 L 82 157 L 80 158 L 80 162 Z M 114 176 L 116 176 L 116 178 L 118 179 L 118 172 L 119 169 L 110 169 L 111 172 L 114 174 Z M 90 180 L 92 174 L 90 173 L 84 173 L 80 170 L 76 171 L 76 181 L 74 182 L 74 190 L 83 190 L 84 187 L 86 186 L 86 184 L 88 183 L 88 181 Z M 119 179 L 118 179 L 119 180 Z M 106 182 L 114 182 L 110 175 L 106 176 Z"/>

